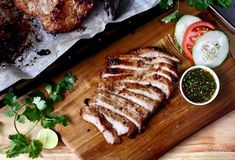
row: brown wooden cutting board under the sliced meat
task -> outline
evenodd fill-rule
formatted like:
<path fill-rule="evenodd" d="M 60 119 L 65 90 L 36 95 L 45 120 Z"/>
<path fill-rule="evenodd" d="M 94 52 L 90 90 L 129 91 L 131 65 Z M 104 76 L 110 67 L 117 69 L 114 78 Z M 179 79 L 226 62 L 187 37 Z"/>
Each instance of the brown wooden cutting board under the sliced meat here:
<path fill-rule="evenodd" d="M 184 11 L 197 13 L 191 8 Z M 108 55 L 126 53 L 138 47 L 159 46 L 181 59 L 182 63 L 178 65 L 180 73 L 192 65 L 174 45 L 172 33 L 175 24 L 163 25 L 160 19 L 154 19 L 135 33 L 94 53 L 70 70 L 78 78 L 76 87 L 66 96 L 65 101 L 57 104 L 55 111 L 65 114 L 71 123 L 68 127 L 58 126 L 57 131 L 80 159 L 158 159 L 200 128 L 234 109 L 235 63 L 230 56 L 215 70 L 221 82 L 221 90 L 213 103 L 202 107 L 192 106 L 183 99 L 176 87 L 174 96 L 162 105 L 161 110 L 148 123 L 146 131 L 134 139 L 123 137 L 122 144 L 109 145 L 93 125 L 82 120 L 79 112 L 83 101 L 94 94 Z"/>

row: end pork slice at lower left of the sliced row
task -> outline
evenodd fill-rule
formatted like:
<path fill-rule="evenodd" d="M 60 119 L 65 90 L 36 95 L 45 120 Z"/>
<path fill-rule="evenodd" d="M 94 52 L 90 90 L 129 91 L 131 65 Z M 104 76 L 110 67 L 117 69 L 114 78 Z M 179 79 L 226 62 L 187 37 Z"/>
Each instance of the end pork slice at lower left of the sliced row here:
<path fill-rule="evenodd" d="M 95 125 L 98 128 L 109 144 L 121 143 L 121 139 L 118 137 L 116 130 L 112 127 L 112 124 L 110 124 L 105 117 L 98 113 L 95 109 L 84 107 L 81 109 L 80 114 L 85 121 Z"/>

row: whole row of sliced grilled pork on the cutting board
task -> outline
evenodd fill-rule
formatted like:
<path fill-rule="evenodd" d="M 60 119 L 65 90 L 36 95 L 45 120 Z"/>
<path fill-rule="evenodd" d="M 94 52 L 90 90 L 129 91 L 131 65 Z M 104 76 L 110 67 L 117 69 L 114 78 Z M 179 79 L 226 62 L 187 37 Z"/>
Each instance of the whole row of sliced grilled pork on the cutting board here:
<path fill-rule="evenodd" d="M 121 135 L 135 137 L 148 119 L 174 92 L 179 59 L 156 48 L 109 56 L 97 91 L 81 110 L 110 144 Z"/>

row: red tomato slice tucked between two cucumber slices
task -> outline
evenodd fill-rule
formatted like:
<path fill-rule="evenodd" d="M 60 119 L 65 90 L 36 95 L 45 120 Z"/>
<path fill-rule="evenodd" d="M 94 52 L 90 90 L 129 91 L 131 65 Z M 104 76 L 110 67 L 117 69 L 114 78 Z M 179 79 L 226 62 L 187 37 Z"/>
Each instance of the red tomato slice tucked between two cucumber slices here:
<path fill-rule="evenodd" d="M 182 47 L 190 61 L 193 62 L 192 48 L 199 37 L 206 32 L 215 29 L 215 26 L 206 21 L 191 24 L 185 31 Z"/>

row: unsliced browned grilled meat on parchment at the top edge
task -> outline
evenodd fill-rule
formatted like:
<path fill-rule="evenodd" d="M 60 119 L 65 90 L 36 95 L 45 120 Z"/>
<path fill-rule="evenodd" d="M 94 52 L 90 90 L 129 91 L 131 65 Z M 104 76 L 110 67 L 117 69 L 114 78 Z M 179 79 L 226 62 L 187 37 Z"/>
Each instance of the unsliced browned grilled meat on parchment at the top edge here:
<path fill-rule="evenodd" d="M 93 0 L 14 0 L 31 16 L 39 17 L 47 32 L 69 32 L 77 28 L 93 8 Z"/>

